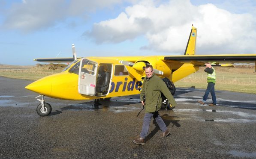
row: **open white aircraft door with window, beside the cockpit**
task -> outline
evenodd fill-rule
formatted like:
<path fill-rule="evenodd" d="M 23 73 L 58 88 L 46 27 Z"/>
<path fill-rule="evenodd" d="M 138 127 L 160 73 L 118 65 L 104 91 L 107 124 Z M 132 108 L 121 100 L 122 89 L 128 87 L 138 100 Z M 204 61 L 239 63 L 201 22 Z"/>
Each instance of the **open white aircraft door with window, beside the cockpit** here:
<path fill-rule="evenodd" d="M 78 92 L 94 96 L 96 94 L 96 71 L 98 64 L 88 59 L 81 59 L 79 67 Z"/>

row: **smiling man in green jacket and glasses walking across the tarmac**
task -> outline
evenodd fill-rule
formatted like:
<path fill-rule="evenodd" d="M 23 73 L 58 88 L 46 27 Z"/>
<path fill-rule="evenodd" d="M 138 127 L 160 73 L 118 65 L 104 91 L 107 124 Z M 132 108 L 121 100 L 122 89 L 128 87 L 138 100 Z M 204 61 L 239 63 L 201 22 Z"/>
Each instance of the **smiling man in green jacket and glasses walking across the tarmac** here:
<path fill-rule="evenodd" d="M 163 122 L 163 119 L 158 113 L 162 106 L 161 93 L 163 93 L 164 96 L 168 99 L 171 106 L 177 105 L 165 82 L 163 82 L 160 77 L 154 74 L 154 69 L 152 65 L 146 66 L 145 74 L 146 77 L 143 82 L 140 99 L 143 106 L 145 107 L 146 113 L 144 116 L 140 137 L 133 140 L 135 144 L 142 145 L 145 144 L 144 139 L 148 135 L 149 125 L 152 117 L 156 120 L 158 126 L 160 127 L 160 130 L 163 132 L 160 138 L 166 138 L 166 136 L 170 133 L 166 127 L 166 124 Z"/>

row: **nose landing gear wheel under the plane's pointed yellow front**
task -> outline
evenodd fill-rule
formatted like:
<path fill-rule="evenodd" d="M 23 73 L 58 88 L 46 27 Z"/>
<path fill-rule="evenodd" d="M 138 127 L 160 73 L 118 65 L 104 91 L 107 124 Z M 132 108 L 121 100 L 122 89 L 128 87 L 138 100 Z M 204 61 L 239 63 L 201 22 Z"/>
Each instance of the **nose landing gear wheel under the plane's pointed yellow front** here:
<path fill-rule="evenodd" d="M 42 96 L 42 100 L 37 99 L 38 97 Z M 39 104 L 36 108 L 36 112 L 40 116 L 47 116 L 51 113 L 51 105 L 49 103 L 45 103 L 45 96 L 39 95 L 36 97 L 36 100 L 40 101 L 41 104 Z"/>

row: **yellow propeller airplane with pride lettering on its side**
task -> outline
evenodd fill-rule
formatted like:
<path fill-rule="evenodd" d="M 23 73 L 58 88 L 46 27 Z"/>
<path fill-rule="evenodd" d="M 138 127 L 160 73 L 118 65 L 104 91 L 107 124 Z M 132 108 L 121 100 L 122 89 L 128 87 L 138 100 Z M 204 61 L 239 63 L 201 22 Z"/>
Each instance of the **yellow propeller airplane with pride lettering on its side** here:
<path fill-rule="evenodd" d="M 192 25 L 184 55 L 181 56 L 118 56 L 77 58 L 72 44 L 73 58 L 34 59 L 38 62 L 71 62 L 61 73 L 39 79 L 25 88 L 39 93 L 41 103 L 37 113 L 47 116 L 51 105 L 45 96 L 63 100 L 110 99 L 116 96 L 139 94 L 145 77 L 145 66 L 154 67 L 159 77 L 176 82 L 199 70 L 206 62 L 215 66 L 256 61 L 256 54 L 195 55 L 196 32 Z M 222 65 L 222 63 L 230 63 Z M 39 99 L 42 97 L 42 99 Z"/>

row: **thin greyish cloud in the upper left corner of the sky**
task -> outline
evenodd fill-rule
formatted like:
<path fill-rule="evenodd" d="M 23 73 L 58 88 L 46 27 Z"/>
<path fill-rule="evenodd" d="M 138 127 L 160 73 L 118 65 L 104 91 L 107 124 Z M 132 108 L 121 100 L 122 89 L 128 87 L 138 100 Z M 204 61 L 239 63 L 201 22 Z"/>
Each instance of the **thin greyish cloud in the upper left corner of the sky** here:
<path fill-rule="evenodd" d="M 84 18 L 85 14 L 97 9 L 123 2 L 135 3 L 136 0 L 21 0 L 3 12 L 2 28 L 22 32 L 47 29 L 67 18 Z"/>

